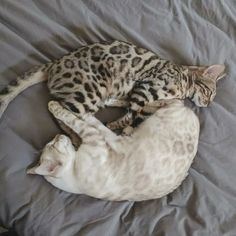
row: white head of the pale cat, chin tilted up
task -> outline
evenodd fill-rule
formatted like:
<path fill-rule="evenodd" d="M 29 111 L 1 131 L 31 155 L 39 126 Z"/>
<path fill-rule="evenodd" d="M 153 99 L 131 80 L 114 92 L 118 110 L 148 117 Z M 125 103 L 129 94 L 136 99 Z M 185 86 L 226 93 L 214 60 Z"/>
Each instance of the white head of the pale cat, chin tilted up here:
<path fill-rule="evenodd" d="M 74 146 L 69 137 L 56 135 L 43 149 L 38 164 L 27 170 L 27 174 L 58 177 L 73 161 Z"/>

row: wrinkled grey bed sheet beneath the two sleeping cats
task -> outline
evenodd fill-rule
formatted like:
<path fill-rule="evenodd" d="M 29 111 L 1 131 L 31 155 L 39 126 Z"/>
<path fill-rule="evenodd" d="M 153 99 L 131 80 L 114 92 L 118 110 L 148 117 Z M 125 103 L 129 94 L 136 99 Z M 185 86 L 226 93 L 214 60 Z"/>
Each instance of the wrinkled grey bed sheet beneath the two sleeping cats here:
<path fill-rule="evenodd" d="M 36 64 L 89 43 L 120 39 L 187 65 L 225 63 L 201 122 L 198 153 L 175 192 L 140 203 L 106 202 L 27 176 L 60 130 L 45 84 L 19 95 L 0 120 L 0 225 L 20 236 L 236 235 L 236 1 L 0 2 L 0 87 Z M 118 115 L 102 113 L 103 119 Z"/>

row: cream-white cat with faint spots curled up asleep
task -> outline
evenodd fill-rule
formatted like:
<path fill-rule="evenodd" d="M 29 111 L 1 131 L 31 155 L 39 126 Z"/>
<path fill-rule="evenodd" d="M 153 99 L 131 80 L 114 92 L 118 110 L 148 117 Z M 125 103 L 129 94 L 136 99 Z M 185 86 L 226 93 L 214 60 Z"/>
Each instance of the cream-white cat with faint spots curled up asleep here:
<path fill-rule="evenodd" d="M 176 189 L 197 152 L 199 120 L 182 101 L 158 109 L 134 130 L 118 136 L 94 116 L 77 118 L 57 102 L 49 110 L 82 144 L 57 135 L 28 174 L 43 175 L 67 192 L 113 201 L 160 198 Z"/>

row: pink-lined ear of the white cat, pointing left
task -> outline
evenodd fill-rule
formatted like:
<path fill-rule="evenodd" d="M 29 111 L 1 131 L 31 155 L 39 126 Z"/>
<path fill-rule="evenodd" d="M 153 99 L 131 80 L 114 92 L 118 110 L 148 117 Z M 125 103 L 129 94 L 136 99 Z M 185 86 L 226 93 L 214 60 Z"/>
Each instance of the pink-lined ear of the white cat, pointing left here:
<path fill-rule="evenodd" d="M 33 175 L 46 175 L 46 176 L 56 176 L 58 170 L 62 166 L 61 162 L 57 160 L 52 161 L 42 161 L 40 165 L 36 165 L 32 168 L 29 168 L 26 173 Z"/>

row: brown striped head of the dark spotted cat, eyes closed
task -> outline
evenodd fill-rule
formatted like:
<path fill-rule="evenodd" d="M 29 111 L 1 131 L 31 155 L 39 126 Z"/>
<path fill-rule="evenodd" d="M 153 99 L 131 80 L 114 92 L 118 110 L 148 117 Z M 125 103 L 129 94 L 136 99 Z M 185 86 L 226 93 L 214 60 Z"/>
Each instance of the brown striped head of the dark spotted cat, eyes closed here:
<path fill-rule="evenodd" d="M 215 98 L 217 81 L 226 75 L 225 66 L 186 66 L 184 69 L 189 78 L 189 98 L 199 107 L 208 106 Z"/>

